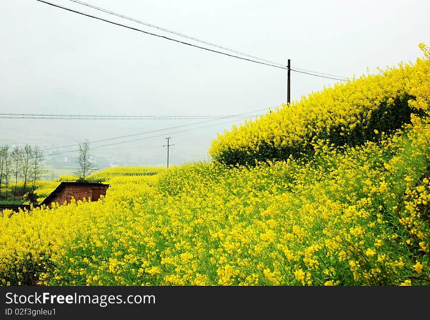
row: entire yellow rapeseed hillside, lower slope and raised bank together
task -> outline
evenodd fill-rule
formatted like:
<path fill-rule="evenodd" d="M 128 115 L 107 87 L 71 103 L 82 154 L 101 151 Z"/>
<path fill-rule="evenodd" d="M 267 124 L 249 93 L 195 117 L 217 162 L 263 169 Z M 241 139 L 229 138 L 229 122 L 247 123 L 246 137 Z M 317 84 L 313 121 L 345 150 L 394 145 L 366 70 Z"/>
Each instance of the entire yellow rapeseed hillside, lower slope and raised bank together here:
<path fill-rule="evenodd" d="M 110 185 L 99 201 L 5 214 L 1 284 L 429 285 L 429 65 L 224 133 L 213 163 L 111 168 L 90 177 Z M 220 161 L 237 150 L 252 166 Z"/>

